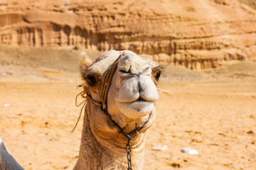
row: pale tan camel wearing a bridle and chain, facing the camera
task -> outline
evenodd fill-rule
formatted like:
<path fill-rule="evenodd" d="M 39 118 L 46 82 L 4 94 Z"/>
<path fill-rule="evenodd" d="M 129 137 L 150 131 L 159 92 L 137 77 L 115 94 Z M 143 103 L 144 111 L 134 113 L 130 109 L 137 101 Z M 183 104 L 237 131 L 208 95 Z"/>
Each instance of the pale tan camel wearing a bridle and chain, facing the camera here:
<path fill-rule="evenodd" d="M 74 170 L 142 169 L 146 131 L 156 117 L 156 86 L 162 71 L 161 65 L 129 50 L 110 50 L 95 62 L 84 57 L 80 95 L 85 98 L 85 115 Z M 5 156 L 0 149 L 1 169 L 10 169 L 2 167 L 5 159 L 18 164 Z"/>

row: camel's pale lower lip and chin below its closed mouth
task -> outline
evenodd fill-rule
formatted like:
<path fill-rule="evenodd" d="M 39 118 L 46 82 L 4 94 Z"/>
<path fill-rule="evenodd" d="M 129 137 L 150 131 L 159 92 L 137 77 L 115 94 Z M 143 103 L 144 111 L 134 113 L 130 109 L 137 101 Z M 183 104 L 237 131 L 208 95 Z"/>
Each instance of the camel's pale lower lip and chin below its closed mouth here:
<path fill-rule="evenodd" d="M 154 110 L 153 101 L 137 100 L 133 102 L 117 102 L 120 111 L 128 118 L 142 118 Z"/>

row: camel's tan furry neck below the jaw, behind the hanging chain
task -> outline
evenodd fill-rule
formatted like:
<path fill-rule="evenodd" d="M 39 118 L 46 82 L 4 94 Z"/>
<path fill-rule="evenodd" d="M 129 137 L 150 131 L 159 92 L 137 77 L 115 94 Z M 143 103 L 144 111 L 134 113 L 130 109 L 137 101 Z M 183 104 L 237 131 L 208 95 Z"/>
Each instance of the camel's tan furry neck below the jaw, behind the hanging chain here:
<path fill-rule="evenodd" d="M 119 134 L 117 128 L 110 127 L 106 115 L 101 113 L 100 116 L 97 108 L 91 112 L 93 114 L 86 109 L 80 155 L 75 169 L 127 169 L 127 138 Z M 97 120 L 94 120 L 95 116 Z M 105 123 L 99 124 L 98 121 L 102 120 L 105 120 Z M 131 141 L 134 169 L 142 169 L 145 139 L 143 132 Z"/>

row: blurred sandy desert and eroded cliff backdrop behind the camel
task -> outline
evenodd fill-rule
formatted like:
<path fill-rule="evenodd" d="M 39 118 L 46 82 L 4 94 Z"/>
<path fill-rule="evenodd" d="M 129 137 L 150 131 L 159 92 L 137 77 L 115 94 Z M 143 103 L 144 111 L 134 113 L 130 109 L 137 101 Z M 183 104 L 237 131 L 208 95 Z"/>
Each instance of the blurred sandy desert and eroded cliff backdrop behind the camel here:
<path fill-rule="evenodd" d="M 255 169 L 256 1 L 0 0 L 0 136 L 25 169 L 73 168 L 80 54 L 112 49 L 168 64 L 144 169 Z"/>

